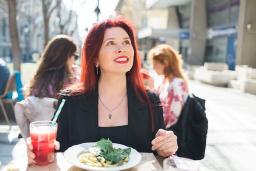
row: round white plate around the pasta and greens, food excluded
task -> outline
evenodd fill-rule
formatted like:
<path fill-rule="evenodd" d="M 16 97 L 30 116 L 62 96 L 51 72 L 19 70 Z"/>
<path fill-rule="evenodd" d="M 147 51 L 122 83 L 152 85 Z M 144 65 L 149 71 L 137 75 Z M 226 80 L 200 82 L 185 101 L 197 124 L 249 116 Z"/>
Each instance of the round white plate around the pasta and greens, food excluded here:
<path fill-rule="evenodd" d="M 67 150 L 64 151 L 64 157 L 66 158 L 66 160 L 68 162 L 70 162 L 71 164 L 75 165 L 78 168 L 81 169 L 86 169 L 88 171 L 121 171 L 121 170 L 126 170 L 129 168 L 132 168 L 136 165 L 138 165 L 138 163 L 141 160 L 141 155 L 140 153 L 131 148 L 131 153 L 129 156 L 129 161 L 121 166 L 117 166 L 117 167 L 111 167 L 111 168 L 98 168 L 98 167 L 93 167 L 93 166 L 88 166 L 86 164 L 83 164 L 81 162 L 79 162 L 78 158 L 79 156 L 84 153 L 84 150 L 88 150 L 89 147 L 93 146 L 95 143 L 82 143 L 79 145 L 75 145 L 72 146 L 70 148 L 68 148 Z M 117 143 L 113 143 L 113 147 L 115 149 L 126 149 L 128 148 L 127 146 L 121 145 L 121 144 L 117 144 Z"/>

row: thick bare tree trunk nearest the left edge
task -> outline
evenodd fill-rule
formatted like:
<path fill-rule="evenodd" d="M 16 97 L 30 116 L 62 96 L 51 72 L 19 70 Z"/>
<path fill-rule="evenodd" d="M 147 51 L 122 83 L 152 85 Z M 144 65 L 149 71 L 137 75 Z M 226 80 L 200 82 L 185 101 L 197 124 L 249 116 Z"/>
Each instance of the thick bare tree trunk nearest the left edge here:
<path fill-rule="evenodd" d="M 7 0 L 9 14 L 9 30 L 11 34 L 12 53 L 13 53 L 13 68 L 20 71 L 21 55 L 20 55 L 20 40 L 17 27 L 17 10 L 16 0 Z"/>

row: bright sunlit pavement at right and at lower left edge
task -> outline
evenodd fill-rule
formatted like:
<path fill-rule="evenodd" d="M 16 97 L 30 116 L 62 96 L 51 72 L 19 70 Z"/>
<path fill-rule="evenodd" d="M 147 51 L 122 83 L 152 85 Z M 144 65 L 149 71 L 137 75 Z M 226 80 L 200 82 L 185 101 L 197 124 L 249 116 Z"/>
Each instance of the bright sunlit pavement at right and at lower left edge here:
<path fill-rule="evenodd" d="M 189 81 L 190 91 L 206 100 L 207 146 L 200 171 L 254 171 L 256 161 L 256 95 L 239 90 Z M 0 120 L 0 169 L 26 155 L 18 139 L 19 128 L 10 132 Z"/>

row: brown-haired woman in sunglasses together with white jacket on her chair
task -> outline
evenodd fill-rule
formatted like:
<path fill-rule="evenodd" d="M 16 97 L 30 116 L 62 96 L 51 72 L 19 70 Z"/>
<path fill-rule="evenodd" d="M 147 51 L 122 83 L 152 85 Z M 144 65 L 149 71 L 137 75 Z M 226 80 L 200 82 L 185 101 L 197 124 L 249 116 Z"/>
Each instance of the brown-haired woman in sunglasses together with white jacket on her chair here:
<path fill-rule="evenodd" d="M 23 138 L 29 136 L 30 122 L 51 120 L 60 89 L 78 83 L 74 67 L 78 57 L 76 44 L 67 35 L 57 35 L 46 45 L 34 77 L 24 88 L 25 100 L 15 104 L 15 118 Z"/>

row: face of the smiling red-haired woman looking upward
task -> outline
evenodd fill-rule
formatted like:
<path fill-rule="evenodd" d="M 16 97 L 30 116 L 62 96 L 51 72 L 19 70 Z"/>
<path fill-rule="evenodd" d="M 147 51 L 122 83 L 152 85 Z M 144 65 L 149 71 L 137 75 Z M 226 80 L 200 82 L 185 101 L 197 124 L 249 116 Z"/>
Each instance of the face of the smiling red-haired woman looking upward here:
<path fill-rule="evenodd" d="M 97 59 L 101 74 L 126 73 L 133 60 L 134 49 L 127 32 L 121 27 L 106 29 Z"/>

